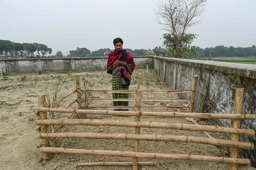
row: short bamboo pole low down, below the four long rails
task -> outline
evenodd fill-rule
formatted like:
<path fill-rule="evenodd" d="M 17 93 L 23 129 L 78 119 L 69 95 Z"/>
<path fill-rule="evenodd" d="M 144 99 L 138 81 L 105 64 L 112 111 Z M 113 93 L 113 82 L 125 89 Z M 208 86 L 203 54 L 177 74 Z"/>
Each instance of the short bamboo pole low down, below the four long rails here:
<path fill-rule="evenodd" d="M 132 162 L 86 162 L 77 166 L 132 166 Z M 156 162 L 138 162 L 139 166 L 156 166 Z"/>

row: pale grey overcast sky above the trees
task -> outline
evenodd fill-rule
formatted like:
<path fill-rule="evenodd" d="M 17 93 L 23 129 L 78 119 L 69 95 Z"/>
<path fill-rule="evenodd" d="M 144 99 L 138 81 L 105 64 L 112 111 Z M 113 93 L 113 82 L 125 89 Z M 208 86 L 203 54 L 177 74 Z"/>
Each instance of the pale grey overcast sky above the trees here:
<path fill-rule="evenodd" d="M 64 55 L 76 47 L 113 49 L 116 37 L 124 48 L 153 49 L 165 33 L 154 6 L 155 0 L 0 0 L 0 39 L 37 42 Z M 193 45 L 256 45 L 256 0 L 210 0 L 202 18 L 187 30 L 199 35 Z"/>

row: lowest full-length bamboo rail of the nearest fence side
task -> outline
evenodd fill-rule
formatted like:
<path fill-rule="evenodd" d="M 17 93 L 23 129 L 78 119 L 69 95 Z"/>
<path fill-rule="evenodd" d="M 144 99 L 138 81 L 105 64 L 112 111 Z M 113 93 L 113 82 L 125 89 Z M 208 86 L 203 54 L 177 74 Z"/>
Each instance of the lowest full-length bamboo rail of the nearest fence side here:
<path fill-rule="evenodd" d="M 227 157 L 211 157 L 191 154 L 162 154 L 162 153 L 143 153 L 132 151 L 117 151 L 117 150 L 85 150 L 73 148 L 53 148 L 41 147 L 40 152 L 49 153 L 66 153 L 66 154 L 84 154 L 93 156 L 113 156 L 113 157 L 132 157 L 132 158 L 147 158 L 147 159 L 177 159 L 190 161 L 208 161 L 218 163 L 236 163 L 250 164 L 249 159 L 242 158 L 227 158 Z"/>

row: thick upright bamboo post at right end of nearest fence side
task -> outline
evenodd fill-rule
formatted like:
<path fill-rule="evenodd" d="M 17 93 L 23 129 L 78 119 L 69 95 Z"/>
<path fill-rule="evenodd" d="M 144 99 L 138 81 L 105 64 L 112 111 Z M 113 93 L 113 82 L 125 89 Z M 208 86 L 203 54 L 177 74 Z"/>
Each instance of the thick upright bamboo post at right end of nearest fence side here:
<path fill-rule="evenodd" d="M 234 113 L 242 114 L 242 104 L 244 102 L 244 88 L 236 88 L 236 97 L 234 105 Z M 242 120 L 232 120 L 233 128 L 241 128 Z M 231 134 L 231 140 L 239 141 L 239 134 Z M 230 147 L 230 157 L 238 158 L 238 148 Z M 238 164 L 230 163 L 230 170 L 238 170 Z"/>

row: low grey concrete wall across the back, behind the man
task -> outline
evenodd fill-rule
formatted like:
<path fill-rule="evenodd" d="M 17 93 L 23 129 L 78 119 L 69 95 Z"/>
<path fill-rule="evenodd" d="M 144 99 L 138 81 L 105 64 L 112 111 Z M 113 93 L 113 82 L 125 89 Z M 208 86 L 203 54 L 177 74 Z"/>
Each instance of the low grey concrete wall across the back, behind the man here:
<path fill-rule="evenodd" d="M 0 76 L 106 70 L 107 57 L 0 59 Z M 136 68 L 153 68 L 153 57 L 134 56 Z"/>

